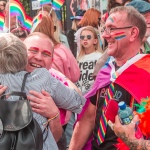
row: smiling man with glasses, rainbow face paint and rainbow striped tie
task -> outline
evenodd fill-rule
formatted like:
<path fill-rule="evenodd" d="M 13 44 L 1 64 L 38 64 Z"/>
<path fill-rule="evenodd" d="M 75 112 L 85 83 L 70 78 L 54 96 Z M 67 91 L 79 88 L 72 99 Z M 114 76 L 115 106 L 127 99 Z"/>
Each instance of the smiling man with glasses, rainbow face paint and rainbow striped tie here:
<path fill-rule="evenodd" d="M 108 117 L 112 116 L 114 120 L 117 114 L 112 112 L 118 102 L 125 101 L 130 105 L 134 99 L 131 99 L 132 95 L 128 91 L 113 81 L 117 77 L 116 70 L 124 68 L 127 61 L 141 56 L 140 47 L 145 33 L 145 19 L 133 7 L 120 6 L 110 11 L 102 36 L 108 42 L 107 54 L 111 57 L 100 70 L 91 91 L 85 95 L 89 104 L 76 123 L 70 150 L 83 149 L 92 133 L 92 150 L 117 150 L 117 136 L 108 126 Z"/>

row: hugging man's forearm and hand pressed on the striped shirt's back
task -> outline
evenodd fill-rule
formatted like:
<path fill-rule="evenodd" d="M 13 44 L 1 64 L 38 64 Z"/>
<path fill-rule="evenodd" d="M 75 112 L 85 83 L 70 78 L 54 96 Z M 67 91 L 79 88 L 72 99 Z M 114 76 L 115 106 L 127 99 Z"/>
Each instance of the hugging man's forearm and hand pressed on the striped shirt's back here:
<path fill-rule="evenodd" d="M 30 94 L 33 96 L 28 95 L 28 99 L 30 100 L 31 107 L 34 112 L 39 113 L 48 119 L 54 117 L 59 112 L 49 93 L 42 90 L 41 93 L 30 91 Z M 49 127 L 54 136 L 54 139 L 56 142 L 58 142 L 62 136 L 62 126 L 60 123 L 59 115 L 54 120 L 49 122 Z"/>

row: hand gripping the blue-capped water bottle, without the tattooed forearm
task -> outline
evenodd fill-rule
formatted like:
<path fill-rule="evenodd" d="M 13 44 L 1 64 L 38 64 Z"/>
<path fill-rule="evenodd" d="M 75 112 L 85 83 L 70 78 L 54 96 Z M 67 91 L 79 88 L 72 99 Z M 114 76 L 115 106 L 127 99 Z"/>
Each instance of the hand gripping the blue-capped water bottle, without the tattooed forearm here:
<path fill-rule="evenodd" d="M 118 115 L 115 118 L 115 123 L 113 125 L 113 130 L 115 134 L 120 137 L 122 140 L 124 140 L 125 137 L 129 138 L 135 138 L 135 124 L 139 121 L 139 118 L 137 115 L 134 116 L 131 123 L 128 125 L 122 125 L 120 123 Z"/>

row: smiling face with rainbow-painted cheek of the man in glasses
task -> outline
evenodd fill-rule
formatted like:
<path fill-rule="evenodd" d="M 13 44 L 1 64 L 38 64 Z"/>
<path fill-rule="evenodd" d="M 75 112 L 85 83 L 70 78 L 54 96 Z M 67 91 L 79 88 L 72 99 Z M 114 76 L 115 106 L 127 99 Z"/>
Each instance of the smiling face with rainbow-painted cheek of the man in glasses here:
<path fill-rule="evenodd" d="M 105 23 L 105 27 L 108 29 L 111 28 L 124 28 L 131 26 L 130 24 L 127 24 L 127 14 L 124 12 L 116 12 L 112 13 L 110 17 L 107 19 Z M 130 40 L 130 33 L 131 28 L 125 28 L 125 29 L 112 29 L 110 30 L 111 33 L 106 33 L 104 31 L 103 38 L 105 38 L 108 42 L 108 55 L 114 56 L 114 57 L 121 57 L 126 53 L 128 50 L 129 40 Z"/>

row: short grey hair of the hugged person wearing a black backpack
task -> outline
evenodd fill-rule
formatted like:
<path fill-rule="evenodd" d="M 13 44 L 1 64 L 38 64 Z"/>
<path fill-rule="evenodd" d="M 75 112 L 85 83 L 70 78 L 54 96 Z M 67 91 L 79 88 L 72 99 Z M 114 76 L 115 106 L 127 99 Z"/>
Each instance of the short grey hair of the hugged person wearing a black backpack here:
<path fill-rule="evenodd" d="M 27 48 L 23 42 L 12 33 L 0 34 L 0 73 L 23 71 L 27 63 Z"/>

